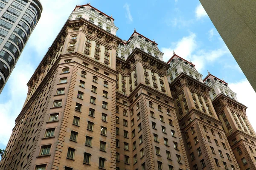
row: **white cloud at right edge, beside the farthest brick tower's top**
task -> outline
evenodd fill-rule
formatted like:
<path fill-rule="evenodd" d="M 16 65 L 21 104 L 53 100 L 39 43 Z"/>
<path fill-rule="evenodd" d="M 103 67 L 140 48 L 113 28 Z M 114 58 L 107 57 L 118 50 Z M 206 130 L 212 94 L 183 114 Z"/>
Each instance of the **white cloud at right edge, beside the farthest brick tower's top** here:
<path fill-rule="evenodd" d="M 256 93 L 253 90 L 252 86 L 248 82 L 247 79 L 243 79 L 239 82 L 230 83 L 228 86 L 231 88 L 232 91 L 234 91 L 237 94 L 237 99 L 240 103 L 247 106 L 247 116 L 248 119 L 253 126 L 253 129 L 256 129 L 256 124 L 253 123 L 253 120 L 256 119 L 255 114 L 255 99 L 256 99 Z"/>

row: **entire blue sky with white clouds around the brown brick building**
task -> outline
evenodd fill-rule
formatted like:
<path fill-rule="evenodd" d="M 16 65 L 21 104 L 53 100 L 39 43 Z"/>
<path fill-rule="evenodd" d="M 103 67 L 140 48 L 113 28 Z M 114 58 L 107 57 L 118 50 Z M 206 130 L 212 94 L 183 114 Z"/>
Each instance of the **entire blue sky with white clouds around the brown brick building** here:
<path fill-rule="evenodd" d="M 43 13 L 29 38 L 2 94 L 0 95 L 0 148 L 5 148 L 15 119 L 26 99 L 26 83 L 34 73 L 47 49 L 52 44 L 71 11 L 85 0 L 41 0 Z M 248 107 L 249 119 L 254 119 L 253 98 L 256 94 L 219 36 L 199 0 L 90 0 L 90 4 L 108 15 L 113 15 L 119 28 L 116 35 L 128 40 L 136 28 L 158 43 L 164 61 L 173 50 L 191 60 L 204 75 L 207 70 L 224 79 L 237 93 L 239 102 Z M 256 129 L 256 125 L 254 125 Z"/>

